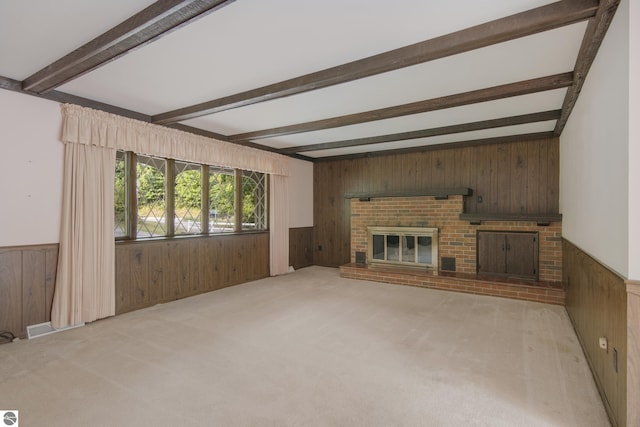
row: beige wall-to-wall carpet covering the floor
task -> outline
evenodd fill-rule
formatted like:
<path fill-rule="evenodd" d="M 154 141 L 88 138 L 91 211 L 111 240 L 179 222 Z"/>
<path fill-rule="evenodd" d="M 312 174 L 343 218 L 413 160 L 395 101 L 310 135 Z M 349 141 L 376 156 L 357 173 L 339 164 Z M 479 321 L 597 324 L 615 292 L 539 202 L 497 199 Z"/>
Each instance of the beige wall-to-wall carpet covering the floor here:
<path fill-rule="evenodd" d="M 607 426 L 562 307 L 295 273 L 0 345 L 21 426 Z"/>

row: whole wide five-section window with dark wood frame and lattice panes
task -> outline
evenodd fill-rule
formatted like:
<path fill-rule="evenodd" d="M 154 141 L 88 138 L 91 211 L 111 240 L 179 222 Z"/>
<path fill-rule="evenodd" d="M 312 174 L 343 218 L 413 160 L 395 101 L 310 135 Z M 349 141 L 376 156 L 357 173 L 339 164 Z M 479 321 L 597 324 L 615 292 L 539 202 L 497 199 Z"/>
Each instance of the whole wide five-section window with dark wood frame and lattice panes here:
<path fill-rule="evenodd" d="M 118 151 L 114 236 L 267 230 L 267 182 L 263 173 Z"/>

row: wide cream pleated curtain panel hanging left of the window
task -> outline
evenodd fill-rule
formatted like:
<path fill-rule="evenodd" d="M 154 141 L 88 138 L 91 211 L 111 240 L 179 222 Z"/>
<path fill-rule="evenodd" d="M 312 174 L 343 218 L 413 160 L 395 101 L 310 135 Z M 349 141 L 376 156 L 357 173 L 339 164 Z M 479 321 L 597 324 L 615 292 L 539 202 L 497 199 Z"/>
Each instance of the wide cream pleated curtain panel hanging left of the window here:
<path fill-rule="evenodd" d="M 115 314 L 115 165 L 113 149 L 65 144 L 54 328 Z"/>

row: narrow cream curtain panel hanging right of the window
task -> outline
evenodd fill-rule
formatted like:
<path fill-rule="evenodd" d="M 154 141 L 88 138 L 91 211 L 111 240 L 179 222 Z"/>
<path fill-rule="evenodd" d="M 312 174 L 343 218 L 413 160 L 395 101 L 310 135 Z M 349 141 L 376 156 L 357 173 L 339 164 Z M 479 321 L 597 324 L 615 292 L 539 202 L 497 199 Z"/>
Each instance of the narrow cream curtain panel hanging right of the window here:
<path fill-rule="evenodd" d="M 289 182 L 288 177 L 273 175 L 269 188 L 271 275 L 289 271 Z"/>

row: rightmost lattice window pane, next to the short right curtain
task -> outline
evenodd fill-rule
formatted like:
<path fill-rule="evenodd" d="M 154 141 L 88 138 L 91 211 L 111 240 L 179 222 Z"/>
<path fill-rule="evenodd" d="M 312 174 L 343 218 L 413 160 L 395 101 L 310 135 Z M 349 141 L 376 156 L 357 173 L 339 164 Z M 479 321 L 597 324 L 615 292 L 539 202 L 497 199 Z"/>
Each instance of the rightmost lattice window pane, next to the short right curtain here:
<path fill-rule="evenodd" d="M 266 230 L 267 228 L 267 175 L 243 171 L 242 229 Z"/>

